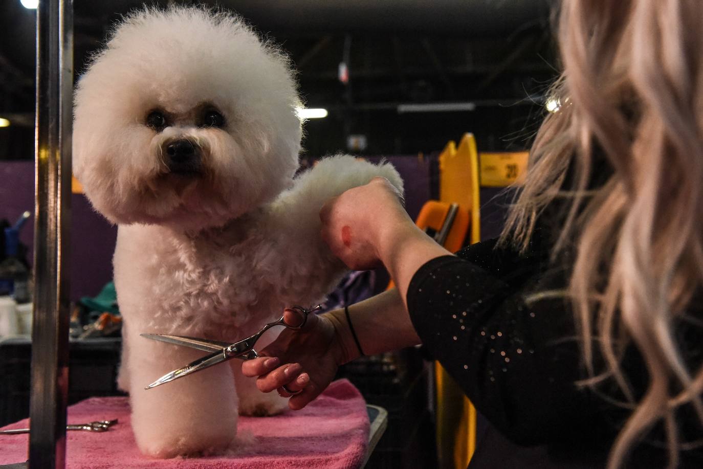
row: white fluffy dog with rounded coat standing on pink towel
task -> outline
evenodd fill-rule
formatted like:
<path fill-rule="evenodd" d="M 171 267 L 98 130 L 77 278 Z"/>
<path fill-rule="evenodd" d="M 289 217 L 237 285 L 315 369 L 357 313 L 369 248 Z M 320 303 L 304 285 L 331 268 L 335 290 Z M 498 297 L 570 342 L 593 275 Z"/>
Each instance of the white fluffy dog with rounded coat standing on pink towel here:
<path fill-rule="evenodd" d="M 80 79 L 74 171 L 119 224 L 118 384 L 144 454 L 233 449 L 238 413 L 286 402 L 259 392 L 238 360 L 144 390 L 204 352 L 139 334 L 234 341 L 284 307 L 316 304 L 343 273 L 320 237 L 322 205 L 374 176 L 401 190 L 390 165 L 349 156 L 294 179 L 299 105 L 287 58 L 240 18 L 203 8 L 129 15 Z"/>

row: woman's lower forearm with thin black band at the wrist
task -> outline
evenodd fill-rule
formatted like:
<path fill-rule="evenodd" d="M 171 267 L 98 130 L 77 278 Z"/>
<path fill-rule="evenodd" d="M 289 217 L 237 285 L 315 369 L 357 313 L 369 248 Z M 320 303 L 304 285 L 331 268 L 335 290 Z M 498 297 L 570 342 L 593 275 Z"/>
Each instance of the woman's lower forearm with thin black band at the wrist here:
<path fill-rule="evenodd" d="M 352 330 L 344 309 L 335 309 L 324 314 L 333 322 L 337 340 L 342 345 L 342 363 L 359 356 Z M 404 301 L 395 288 L 349 307 L 352 327 L 359 345 L 366 355 L 380 354 L 420 343 Z"/>

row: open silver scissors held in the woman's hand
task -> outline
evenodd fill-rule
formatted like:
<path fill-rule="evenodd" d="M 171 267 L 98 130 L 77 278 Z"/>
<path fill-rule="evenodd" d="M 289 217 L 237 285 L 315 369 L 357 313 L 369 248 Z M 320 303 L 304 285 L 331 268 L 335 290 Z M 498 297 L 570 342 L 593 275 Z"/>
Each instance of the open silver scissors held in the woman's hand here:
<path fill-rule="evenodd" d="M 254 350 L 254 345 L 256 345 L 257 340 L 264 335 L 266 330 L 269 330 L 273 326 L 285 326 L 289 329 L 302 328 L 307 322 L 308 314 L 313 313 L 314 311 L 319 311 L 322 307 L 318 304 L 316 307 L 311 309 L 307 309 L 302 306 L 294 306 L 289 309 L 297 313 L 295 323 L 286 323 L 283 320 L 283 316 L 280 316 L 278 321 L 268 323 L 259 329 L 254 335 L 250 335 L 250 337 L 234 343 L 188 337 L 186 335 L 141 334 L 142 337 L 146 337 L 148 339 L 160 340 L 161 342 L 168 342 L 169 344 L 174 345 L 182 345 L 183 347 L 191 347 L 191 349 L 198 349 L 203 352 L 212 352 L 209 355 L 205 355 L 202 358 L 183 366 L 182 368 L 166 373 L 144 389 L 148 390 L 152 387 L 169 383 L 175 379 L 183 378 L 183 376 L 191 375 L 197 371 L 209 368 L 210 366 L 220 364 L 223 361 L 228 361 L 231 359 L 251 360 L 258 358 L 259 354 L 257 354 L 256 350 Z"/>

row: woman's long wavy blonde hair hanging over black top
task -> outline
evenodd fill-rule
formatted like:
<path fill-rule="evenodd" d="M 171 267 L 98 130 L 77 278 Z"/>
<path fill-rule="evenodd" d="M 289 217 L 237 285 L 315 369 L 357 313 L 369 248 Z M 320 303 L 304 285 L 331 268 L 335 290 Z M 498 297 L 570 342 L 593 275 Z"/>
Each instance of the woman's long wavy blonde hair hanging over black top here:
<path fill-rule="evenodd" d="M 687 368 L 674 336 L 703 285 L 703 1 L 563 0 L 558 18 L 560 108 L 538 131 L 503 238 L 526 248 L 543 209 L 566 198 L 553 253 L 575 250 L 568 295 L 585 383 L 614 378 L 633 408 L 608 467 L 658 422 L 673 467 L 685 447 L 676 410 L 690 404 L 703 422 L 703 369 Z M 612 167 L 598 188 L 594 158 Z M 627 343 L 650 376 L 639 401 L 620 366 Z"/>

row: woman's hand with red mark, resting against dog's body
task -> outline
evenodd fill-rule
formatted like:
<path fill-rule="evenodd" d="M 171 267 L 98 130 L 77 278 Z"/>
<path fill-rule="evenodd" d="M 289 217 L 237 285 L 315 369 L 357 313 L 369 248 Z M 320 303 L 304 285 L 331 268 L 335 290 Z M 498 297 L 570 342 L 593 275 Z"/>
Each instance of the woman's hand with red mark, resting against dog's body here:
<path fill-rule="evenodd" d="M 382 241 L 393 237 L 389 231 L 414 227 L 398 191 L 382 177 L 330 199 L 320 219 L 323 240 L 354 270 L 380 266 L 385 254 Z"/>

